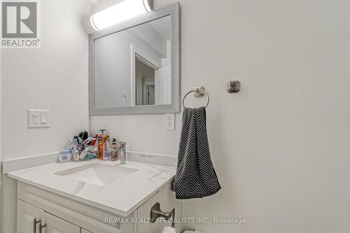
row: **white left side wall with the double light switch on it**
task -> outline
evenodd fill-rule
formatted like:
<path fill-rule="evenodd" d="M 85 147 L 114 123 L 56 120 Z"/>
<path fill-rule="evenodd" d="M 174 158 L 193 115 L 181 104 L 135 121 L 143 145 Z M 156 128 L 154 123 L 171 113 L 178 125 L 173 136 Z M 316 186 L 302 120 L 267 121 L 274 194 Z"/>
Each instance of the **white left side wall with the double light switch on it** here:
<path fill-rule="evenodd" d="M 41 49 L 2 50 L 2 160 L 62 150 L 89 129 L 87 0 L 41 1 Z M 28 129 L 27 109 L 51 111 L 49 129 Z M 3 233 L 15 232 L 16 185 L 3 176 Z"/>

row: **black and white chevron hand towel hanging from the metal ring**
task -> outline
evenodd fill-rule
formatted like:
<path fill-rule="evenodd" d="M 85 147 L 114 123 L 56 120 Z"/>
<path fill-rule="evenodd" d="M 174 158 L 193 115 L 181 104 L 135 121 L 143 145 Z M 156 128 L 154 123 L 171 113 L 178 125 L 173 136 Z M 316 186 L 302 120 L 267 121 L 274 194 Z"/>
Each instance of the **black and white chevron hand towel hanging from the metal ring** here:
<path fill-rule="evenodd" d="M 221 189 L 210 158 L 205 108 L 184 108 L 174 190 L 177 199 L 214 195 Z"/>

